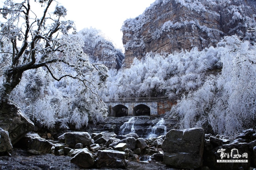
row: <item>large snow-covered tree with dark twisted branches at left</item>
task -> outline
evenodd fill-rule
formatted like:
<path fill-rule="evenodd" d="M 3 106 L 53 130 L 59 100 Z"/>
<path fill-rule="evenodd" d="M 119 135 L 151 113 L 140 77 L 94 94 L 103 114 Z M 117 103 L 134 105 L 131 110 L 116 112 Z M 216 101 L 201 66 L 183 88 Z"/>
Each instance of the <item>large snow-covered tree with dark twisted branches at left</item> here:
<path fill-rule="evenodd" d="M 1 22 L 0 25 L 0 79 L 2 82 L 0 109 L 8 103 L 10 95 L 15 96 L 11 94 L 14 92 L 38 102 L 37 97 L 44 93 L 46 83 L 51 83 L 42 79 L 42 73 L 45 77 L 50 76 L 60 82 L 64 79 L 66 81 L 74 79 L 76 84 L 82 85 L 83 89 L 76 91 L 76 95 L 87 95 L 87 103 L 93 103 L 95 98 L 100 101 L 97 90 L 104 86 L 108 77 L 107 68 L 102 64 L 89 62 L 88 56 L 83 53 L 83 39 L 76 35 L 74 22 L 62 20 L 67 15 L 67 10 L 63 6 L 57 3 L 55 10 L 49 12 L 50 6 L 53 6 L 56 1 L 38 0 L 34 3 L 43 9 L 42 13 L 31 9 L 30 0 L 22 3 L 6 0 L 4 7 L 0 8 L 0 13 L 5 19 L 5 22 Z M 22 81 L 25 73 L 29 81 L 25 86 L 20 86 L 25 92 L 23 94 L 14 89 Z M 94 97 L 89 97 L 89 93 Z M 93 99 L 90 100 L 90 98 Z M 53 101 L 53 98 L 50 100 Z M 38 109 L 46 112 L 44 108 L 46 105 L 52 105 L 52 108 L 55 108 L 55 103 L 58 104 L 57 100 L 49 103 L 50 100 L 42 100 L 41 104 L 37 105 Z M 61 109 L 60 106 L 57 108 Z M 82 121 L 85 122 L 88 116 L 86 118 L 87 113 L 81 108 L 79 104 L 78 106 L 73 104 L 71 110 L 76 115 L 83 114 L 84 116 L 80 117 L 84 117 Z M 67 107 L 66 111 L 68 111 Z M 66 111 L 63 111 L 63 114 Z M 50 113 L 50 110 L 47 112 Z M 50 119 L 50 114 L 43 115 L 48 115 L 46 118 Z M 78 116 L 75 118 L 77 119 Z M 71 119 L 71 122 L 77 123 L 76 119 Z"/>

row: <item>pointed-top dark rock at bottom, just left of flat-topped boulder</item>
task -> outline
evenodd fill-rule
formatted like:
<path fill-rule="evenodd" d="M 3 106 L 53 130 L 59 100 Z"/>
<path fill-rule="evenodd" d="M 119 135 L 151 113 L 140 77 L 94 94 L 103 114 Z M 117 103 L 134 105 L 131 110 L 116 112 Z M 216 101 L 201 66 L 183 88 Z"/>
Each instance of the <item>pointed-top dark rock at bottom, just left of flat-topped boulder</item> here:
<path fill-rule="evenodd" d="M 86 150 L 82 150 L 78 152 L 73 158 L 71 158 L 70 162 L 75 163 L 80 167 L 91 167 L 94 165 L 94 157 L 93 154 L 87 152 Z"/>

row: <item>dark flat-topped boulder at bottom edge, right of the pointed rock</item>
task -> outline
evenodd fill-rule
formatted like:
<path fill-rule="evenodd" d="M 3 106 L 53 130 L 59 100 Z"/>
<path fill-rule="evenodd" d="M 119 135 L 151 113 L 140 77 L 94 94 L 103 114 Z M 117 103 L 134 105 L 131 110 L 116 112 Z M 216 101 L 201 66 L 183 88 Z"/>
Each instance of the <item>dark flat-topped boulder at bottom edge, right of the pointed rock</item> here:
<path fill-rule="evenodd" d="M 98 151 L 97 155 L 98 158 L 95 161 L 97 167 L 127 167 L 127 160 L 125 160 L 125 152 L 115 150 L 100 150 Z"/>

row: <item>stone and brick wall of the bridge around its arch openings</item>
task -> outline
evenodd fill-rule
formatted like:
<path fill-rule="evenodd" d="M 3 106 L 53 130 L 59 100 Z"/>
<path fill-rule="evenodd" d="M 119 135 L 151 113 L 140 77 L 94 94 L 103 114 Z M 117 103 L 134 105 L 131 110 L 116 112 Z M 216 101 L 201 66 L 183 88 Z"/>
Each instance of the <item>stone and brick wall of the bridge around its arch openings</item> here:
<path fill-rule="evenodd" d="M 124 101 L 124 102 L 105 102 L 109 107 L 109 116 L 116 117 L 116 111 L 121 108 L 128 109 L 128 116 L 135 116 L 138 106 L 150 108 L 150 115 L 156 116 L 164 114 L 171 110 L 173 104 L 176 104 L 176 100 L 163 100 L 163 101 L 148 101 L 148 102 L 138 102 L 138 101 Z"/>

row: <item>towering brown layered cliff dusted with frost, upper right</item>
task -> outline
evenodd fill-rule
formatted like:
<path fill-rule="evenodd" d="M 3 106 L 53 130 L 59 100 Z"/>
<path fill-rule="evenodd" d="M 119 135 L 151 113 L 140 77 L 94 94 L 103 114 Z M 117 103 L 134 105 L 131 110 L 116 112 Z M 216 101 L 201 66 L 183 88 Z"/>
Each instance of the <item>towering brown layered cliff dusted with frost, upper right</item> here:
<path fill-rule="evenodd" d="M 254 40 L 254 0 L 156 0 L 142 15 L 122 27 L 124 67 L 147 52 L 173 53 L 216 46 L 226 35 Z"/>

